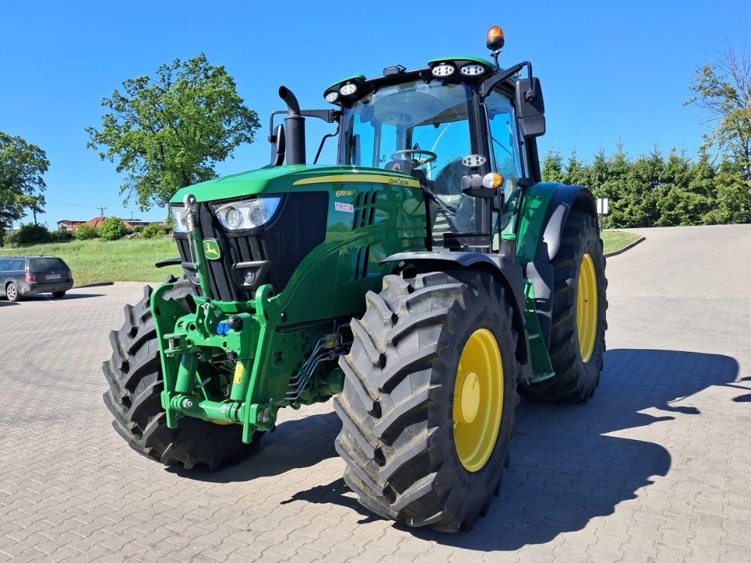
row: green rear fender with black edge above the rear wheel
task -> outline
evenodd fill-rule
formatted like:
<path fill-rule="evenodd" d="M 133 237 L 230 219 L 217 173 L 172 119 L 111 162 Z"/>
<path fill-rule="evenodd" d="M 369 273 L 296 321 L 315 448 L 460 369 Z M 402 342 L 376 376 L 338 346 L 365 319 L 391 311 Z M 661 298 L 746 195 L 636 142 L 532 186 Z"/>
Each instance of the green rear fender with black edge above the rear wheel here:
<path fill-rule="evenodd" d="M 540 182 L 524 194 L 517 258 L 535 288 L 537 316 L 545 345 L 550 349 L 553 317 L 553 266 L 573 210 L 597 218 L 592 192 L 583 185 Z"/>

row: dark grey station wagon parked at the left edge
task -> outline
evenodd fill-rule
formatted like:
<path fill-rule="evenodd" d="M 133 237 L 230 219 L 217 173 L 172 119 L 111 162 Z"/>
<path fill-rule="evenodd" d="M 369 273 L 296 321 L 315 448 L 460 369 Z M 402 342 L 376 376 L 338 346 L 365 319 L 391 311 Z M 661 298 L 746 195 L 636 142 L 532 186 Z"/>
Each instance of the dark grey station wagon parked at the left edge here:
<path fill-rule="evenodd" d="M 73 274 L 56 256 L 0 257 L 0 297 L 19 301 L 26 295 L 52 294 L 59 299 L 73 287 Z"/>

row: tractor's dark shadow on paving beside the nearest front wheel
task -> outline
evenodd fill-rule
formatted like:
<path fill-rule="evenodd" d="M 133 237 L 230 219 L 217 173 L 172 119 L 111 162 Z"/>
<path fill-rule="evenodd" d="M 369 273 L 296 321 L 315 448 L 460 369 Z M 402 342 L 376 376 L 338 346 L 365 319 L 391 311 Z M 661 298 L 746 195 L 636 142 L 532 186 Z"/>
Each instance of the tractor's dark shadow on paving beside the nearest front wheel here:
<path fill-rule="evenodd" d="M 488 552 L 547 543 L 558 534 L 581 530 L 591 519 L 613 513 L 620 502 L 636 498 L 638 489 L 671 467 L 671 456 L 662 445 L 606 434 L 698 416 L 701 411 L 692 406 L 690 396 L 731 384 L 737 375 L 737 362 L 716 354 L 608 351 L 591 402 L 520 404 L 511 468 L 505 472 L 499 498 L 475 528 L 457 534 L 400 524 L 394 528 L 424 540 Z M 645 409 L 660 412 L 641 412 Z M 341 479 L 298 492 L 285 504 L 293 501 L 340 504 L 363 515 L 360 523 L 372 519 Z"/>

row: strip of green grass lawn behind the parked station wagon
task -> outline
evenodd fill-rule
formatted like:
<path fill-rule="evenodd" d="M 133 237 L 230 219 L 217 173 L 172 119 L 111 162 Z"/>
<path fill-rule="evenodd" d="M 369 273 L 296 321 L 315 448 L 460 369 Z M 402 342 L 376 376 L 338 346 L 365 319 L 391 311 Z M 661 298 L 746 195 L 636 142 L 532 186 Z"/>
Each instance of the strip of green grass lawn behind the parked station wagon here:
<path fill-rule="evenodd" d="M 0 257 L 13 254 L 52 254 L 71 266 L 75 285 L 102 281 L 164 281 L 182 268 L 155 268 L 154 263 L 179 256 L 172 239 L 74 240 L 47 245 L 0 248 Z"/>

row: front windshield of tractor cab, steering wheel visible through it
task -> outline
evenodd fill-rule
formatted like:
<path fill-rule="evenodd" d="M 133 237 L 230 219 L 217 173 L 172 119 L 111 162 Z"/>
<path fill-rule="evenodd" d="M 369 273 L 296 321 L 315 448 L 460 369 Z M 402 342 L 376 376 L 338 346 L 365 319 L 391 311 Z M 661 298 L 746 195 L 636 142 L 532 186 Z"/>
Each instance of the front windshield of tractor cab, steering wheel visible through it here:
<path fill-rule="evenodd" d="M 420 179 L 440 203 L 431 202 L 437 243 L 444 232 L 474 232 L 480 202 L 461 191 L 467 172 L 461 159 L 476 144 L 470 107 L 472 89 L 466 84 L 418 80 L 383 86 L 343 110 L 340 161 Z"/>

